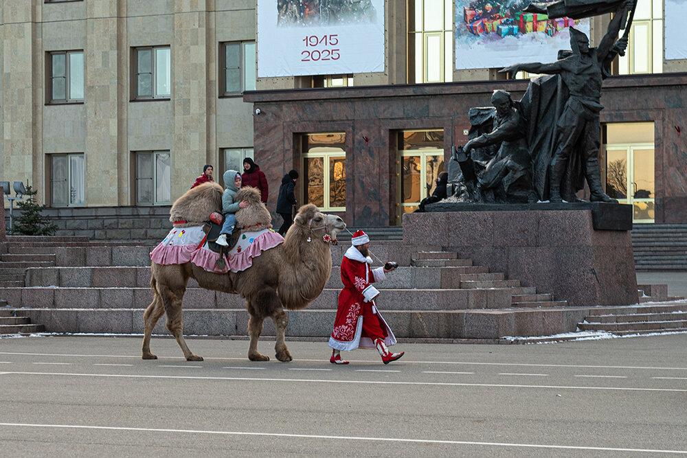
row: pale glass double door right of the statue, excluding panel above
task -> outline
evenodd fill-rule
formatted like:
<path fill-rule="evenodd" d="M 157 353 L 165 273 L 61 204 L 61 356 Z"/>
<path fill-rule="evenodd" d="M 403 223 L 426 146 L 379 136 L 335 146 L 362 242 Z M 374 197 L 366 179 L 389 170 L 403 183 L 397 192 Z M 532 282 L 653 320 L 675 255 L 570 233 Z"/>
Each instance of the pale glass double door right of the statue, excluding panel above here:
<path fill-rule="evenodd" d="M 653 144 L 606 146 L 606 194 L 633 206 L 633 222 L 654 222 Z"/>

